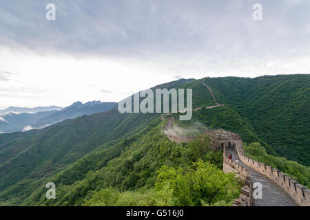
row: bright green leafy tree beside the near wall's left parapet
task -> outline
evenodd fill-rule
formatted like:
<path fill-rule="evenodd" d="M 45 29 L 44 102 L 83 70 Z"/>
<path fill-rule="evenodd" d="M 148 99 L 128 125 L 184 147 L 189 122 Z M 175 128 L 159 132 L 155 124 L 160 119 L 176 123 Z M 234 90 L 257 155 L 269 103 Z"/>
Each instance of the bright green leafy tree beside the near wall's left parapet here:
<path fill-rule="evenodd" d="M 228 205 L 238 197 L 241 188 L 233 173 L 225 174 L 214 164 L 201 159 L 186 172 L 182 168 L 176 170 L 162 166 L 155 186 L 165 195 L 165 201 L 174 206 L 212 205 L 220 200 Z"/>

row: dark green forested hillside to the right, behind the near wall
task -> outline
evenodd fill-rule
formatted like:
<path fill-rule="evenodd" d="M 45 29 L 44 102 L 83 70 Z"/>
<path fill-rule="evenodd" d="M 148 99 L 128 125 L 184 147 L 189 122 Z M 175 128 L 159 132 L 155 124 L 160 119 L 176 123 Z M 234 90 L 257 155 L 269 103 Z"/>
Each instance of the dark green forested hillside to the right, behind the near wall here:
<path fill-rule="evenodd" d="M 196 80 L 183 85 L 193 88 L 195 107 L 207 104 L 200 102 L 206 89 L 198 82 L 203 80 L 225 107 L 196 111 L 197 120 L 240 133 L 246 142 L 258 140 L 268 153 L 309 166 L 310 75 Z"/>

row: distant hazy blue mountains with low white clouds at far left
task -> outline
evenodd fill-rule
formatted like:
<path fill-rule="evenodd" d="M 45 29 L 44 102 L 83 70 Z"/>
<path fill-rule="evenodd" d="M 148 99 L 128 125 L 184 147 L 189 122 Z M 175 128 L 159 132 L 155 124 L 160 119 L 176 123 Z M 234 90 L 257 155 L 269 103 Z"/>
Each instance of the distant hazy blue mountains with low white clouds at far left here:
<path fill-rule="evenodd" d="M 93 101 L 85 104 L 74 102 L 65 108 L 56 106 L 33 109 L 9 107 L 0 111 L 0 133 L 42 129 L 68 118 L 108 111 L 116 107 L 116 104 L 116 102 Z"/>

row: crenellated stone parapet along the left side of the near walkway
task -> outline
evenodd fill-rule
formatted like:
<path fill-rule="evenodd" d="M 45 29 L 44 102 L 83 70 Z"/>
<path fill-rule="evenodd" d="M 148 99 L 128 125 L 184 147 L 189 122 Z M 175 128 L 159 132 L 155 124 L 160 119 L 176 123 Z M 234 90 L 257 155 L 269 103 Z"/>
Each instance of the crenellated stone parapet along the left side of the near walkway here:
<path fill-rule="evenodd" d="M 237 177 L 245 181 L 245 186 L 242 186 L 240 196 L 235 199 L 233 206 L 252 206 L 252 181 L 249 170 L 236 162 L 232 162 L 231 159 L 226 157 L 226 148 L 223 148 L 223 172 L 224 173 L 236 173 Z"/>

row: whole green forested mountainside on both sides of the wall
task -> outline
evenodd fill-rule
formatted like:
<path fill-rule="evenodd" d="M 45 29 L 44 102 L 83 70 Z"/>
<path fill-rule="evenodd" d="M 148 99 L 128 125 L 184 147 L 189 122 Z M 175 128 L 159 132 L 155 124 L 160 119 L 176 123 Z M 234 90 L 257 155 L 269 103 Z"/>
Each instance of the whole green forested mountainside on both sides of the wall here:
<path fill-rule="evenodd" d="M 214 100 L 203 81 L 223 107 L 205 109 Z M 198 122 L 209 129 L 240 133 L 250 146 L 249 156 L 276 164 L 309 184 L 309 167 L 300 164 L 310 164 L 310 75 L 177 80 L 155 88 L 193 89 L 193 107 L 202 109 L 194 111 L 190 121 L 176 121 L 176 126 L 191 129 Z M 172 116 L 178 118 L 178 113 Z M 0 135 L 0 204 L 200 206 L 229 205 L 238 197 L 240 183 L 223 175 L 221 153 L 210 151 L 203 140 L 170 142 L 164 127 L 161 114 L 112 110 L 37 131 Z M 265 152 L 259 157 L 251 151 L 253 142 L 260 143 L 260 152 L 265 148 L 273 156 Z M 187 179 L 193 172 L 216 173 L 224 184 L 210 181 L 220 193 L 210 198 L 189 190 Z M 48 181 L 56 184 L 55 200 L 45 199 Z M 103 201 L 105 195 L 110 200 Z"/>

